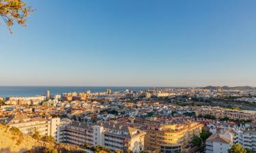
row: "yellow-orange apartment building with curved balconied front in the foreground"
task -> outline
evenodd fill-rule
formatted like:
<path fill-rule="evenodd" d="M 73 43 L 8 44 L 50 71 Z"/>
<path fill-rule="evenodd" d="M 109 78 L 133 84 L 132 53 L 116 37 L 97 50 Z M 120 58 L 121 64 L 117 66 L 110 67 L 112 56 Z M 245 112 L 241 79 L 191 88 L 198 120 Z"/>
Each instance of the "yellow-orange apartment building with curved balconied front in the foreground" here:
<path fill-rule="evenodd" d="M 147 126 L 145 147 L 152 152 L 190 152 L 191 141 L 200 135 L 202 124 L 150 124 Z"/>

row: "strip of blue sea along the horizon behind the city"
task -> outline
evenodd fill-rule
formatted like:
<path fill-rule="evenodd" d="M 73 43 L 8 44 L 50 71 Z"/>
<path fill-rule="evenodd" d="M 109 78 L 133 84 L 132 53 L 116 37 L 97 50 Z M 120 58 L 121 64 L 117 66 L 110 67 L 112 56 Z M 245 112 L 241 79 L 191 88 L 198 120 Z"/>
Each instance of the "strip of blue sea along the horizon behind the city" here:
<path fill-rule="evenodd" d="M 119 90 L 146 90 L 150 87 L 117 87 L 117 86 L 0 86 L 0 97 L 31 97 L 45 95 L 50 90 L 51 95 L 61 95 L 66 92 L 105 92 L 110 88 L 112 92 Z"/>

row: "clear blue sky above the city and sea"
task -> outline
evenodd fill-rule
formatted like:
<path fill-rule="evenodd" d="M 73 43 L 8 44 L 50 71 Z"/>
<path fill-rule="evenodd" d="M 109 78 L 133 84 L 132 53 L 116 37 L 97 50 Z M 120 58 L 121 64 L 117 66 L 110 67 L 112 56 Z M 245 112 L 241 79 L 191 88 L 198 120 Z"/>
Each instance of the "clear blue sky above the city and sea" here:
<path fill-rule="evenodd" d="M 0 86 L 256 86 L 256 1 L 25 0 Z"/>

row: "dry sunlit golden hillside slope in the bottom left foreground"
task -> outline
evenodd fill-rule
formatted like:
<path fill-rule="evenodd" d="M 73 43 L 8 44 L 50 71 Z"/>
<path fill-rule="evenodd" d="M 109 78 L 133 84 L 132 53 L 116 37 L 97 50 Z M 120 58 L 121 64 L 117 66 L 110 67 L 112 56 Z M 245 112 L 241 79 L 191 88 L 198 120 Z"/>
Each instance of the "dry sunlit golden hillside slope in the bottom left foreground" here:
<path fill-rule="evenodd" d="M 33 139 L 29 135 L 24 135 L 19 131 L 13 131 L 0 124 L 0 152 L 1 153 L 23 153 L 23 152 L 44 152 L 46 148 L 56 148 L 61 152 L 84 152 L 79 146 L 56 144 Z"/>

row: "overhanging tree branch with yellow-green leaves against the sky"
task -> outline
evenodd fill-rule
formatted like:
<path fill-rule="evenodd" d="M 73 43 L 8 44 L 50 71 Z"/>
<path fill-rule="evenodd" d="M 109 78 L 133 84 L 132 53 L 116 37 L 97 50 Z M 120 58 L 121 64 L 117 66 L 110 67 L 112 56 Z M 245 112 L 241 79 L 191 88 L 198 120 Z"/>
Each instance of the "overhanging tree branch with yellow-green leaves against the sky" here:
<path fill-rule="evenodd" d="M 1 0 L 0 1 L 0 16 L 3 22 L 8 26 L 8 29 L 12 33 L 10 27 L 14 22 L 25 26 L 26 18 L 33 12 L 31 7 L 28 7 L 23 0 Z"/>

